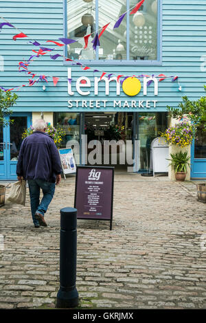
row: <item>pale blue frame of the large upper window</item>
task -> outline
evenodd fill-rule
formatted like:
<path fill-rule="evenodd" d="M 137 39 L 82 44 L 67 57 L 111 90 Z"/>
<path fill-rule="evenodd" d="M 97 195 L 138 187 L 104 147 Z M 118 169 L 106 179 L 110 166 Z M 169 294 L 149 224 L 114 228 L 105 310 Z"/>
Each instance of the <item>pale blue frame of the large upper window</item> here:
<path fill-rule="evenodd" d="M 95 1 L 95 16 L 98 17 L 98 0 Z M 129 9 L 129 0 L 126 0 L 126 10 Z M 131 65 L 162 65 L 162 0 L 157 0 L 157 60 L 99 60 L 98 59 L 98 53 L 96 55 L 95 60 L 78 60 L 79 63 L 82 63 L 83 65 L 104 65 L 104 66 L 111 66 L 111 65 L 119 65 L 121 62 L 125 66 L 131 66 Z M 137 0 L 138 2 L 138 0 Z M 67 0 L 64 0 L 64 22 L 63 22 L 63 29 L 64 29 L 64 37 L 67 38 Z M 129 16 L 126 16 L 126 27 L 129 29 Z M 96 30 L 95 32 L 98 32 L 98 21 L 96 23 Z M 126 33 L 126 43 L 127 48 L 129 47 L 129 33 Z M 129 56 L 129 50 L 126 51 L 127 58 Z M 64 56 L 67 57 L 67 46 L 64 48 Z M 72 62 L 66 61 L 64 57 L 63 65 L 71 66 Z"/>

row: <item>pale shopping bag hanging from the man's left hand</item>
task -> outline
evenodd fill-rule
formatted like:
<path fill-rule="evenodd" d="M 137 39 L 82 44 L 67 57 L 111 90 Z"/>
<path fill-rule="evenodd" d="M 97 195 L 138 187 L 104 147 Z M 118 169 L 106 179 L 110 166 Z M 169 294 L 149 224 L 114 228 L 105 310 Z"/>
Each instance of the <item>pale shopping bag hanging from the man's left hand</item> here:
<path fill-rule="evenodd" d="M 12 184 L 12 188 L 5 202 L 25 205 L 25 197 L 26 197 L 26 181 L 22 179 L 21 181 L 16 181 L 15 183 Z"/>

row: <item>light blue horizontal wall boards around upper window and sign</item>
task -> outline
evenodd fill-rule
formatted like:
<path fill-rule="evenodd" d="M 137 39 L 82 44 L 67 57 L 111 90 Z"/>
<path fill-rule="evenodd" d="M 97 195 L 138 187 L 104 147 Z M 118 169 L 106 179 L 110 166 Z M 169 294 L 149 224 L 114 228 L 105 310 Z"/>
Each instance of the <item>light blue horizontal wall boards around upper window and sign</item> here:
<path fill-rule="evenodd" d="M 46 40 L 58 40 L 64 35 L 64 0 L 33 0 L 0 2 L 1 16 L 13 23 L 30 38 L 39 41 L 41 45 L 47 46 Z M 153 86 L 148 89 L 145 98 L 143 92 L 132 100 L 158 100 L 156 111 L 165 111 L 167 105 L 176 107 L 181 102 L 182 96 L 196 99 L 203 95 L 203 85 L 206 83 L 205 74 L 201 71 L 201 56 L 206 55 L 206 3 L 205 0 L 162 0 L 162 64 L 154 66 L 101 66 L 99 69 L 110 73 L 121 74 L 166 74 L 178 75 L 182 91 L 178 90 L 176 82 L 164 80 L 159 83 L 159 96 L 154 97 Z M 1 21 L 3 22 L 3 21 Z M 18 63 L 27 60 L 32 55 L 35 46 L 27 44 L 27 38 L 12 41 L 14 33 L 12 28 L 3 27 L 0 33 L 0 54 L 5 61 L 4 71 L 0 71 L 0 85 L 10 88 L 27 84 L 28 76 L 19 73 Z M 52 47 L 52 45 L 49 45 Z M 62 47 L 58 47 L 58 53 L 63 54 Z M 55 52 L 54 54 L 56 54 Z M 30 71 L 47 76 L 58 76 L 65 78 L 59 80 L 54 87 L 52 79 L 48 85 L 39 82 L 33 87 L 24 87 L 19 94 L 18 104 L 14 111 L 69 111 L 68 100 L 84 99 L 80 95 L 69 98 L 67 93 L 67 66 L 63 64 L 62 58 L 52 60 L 49 56 L 41 56 L 30 65 Z M 98 68 L 98 65 L 96 65 Z M 93 68 L 95 68 L 93 66 Z M 80 67 L 72 66 L 73 84 L 76 78 L 84 75 L 93 79 L 93 73 L 82 72 Z M 47 91 L 42 90 L 43 84 Z M 91 95 L 87 100 L 104 100 L 104 82 L 99 91 L 99 96 L 93 96 L 93 82 Z M 115 95 L 115 84 L 111 85 L 111 95 L 107 103 L 107 110 L 111 111 L 113 100 L 131 100 L 121 91 L 121 98 Z M 80 109 L 73 108 L 73 111 Z M 101 108 L 99 111 L 106 111 Z M 117 109 L 116 109 L 117 110 Z M 148 109 L 144 109 L 147 111 Z M 86 111 L 82 109 L 82 111 Z M 89 109 L 87 109 L 89 111 Z M 123 110 L 122 110 L 123 111 Z M 125 108 L 125 111 L 129 111 Z M 130 111 L 143 111 L 143 109 L 130 109 Z M 150 109 L 152 111 L 152 109 Z"/>

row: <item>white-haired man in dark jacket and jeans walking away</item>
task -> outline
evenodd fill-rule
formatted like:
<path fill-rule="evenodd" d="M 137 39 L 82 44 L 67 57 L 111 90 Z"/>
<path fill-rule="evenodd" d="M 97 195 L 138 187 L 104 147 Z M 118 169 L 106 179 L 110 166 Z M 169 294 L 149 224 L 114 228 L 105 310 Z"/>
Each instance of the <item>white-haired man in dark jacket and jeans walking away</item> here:
<path fill-rule="evenodd" d="M 54 140 L 45 133 L 45 120 L 36 120 L 33 127 L 34 133 L 21 144 L 16 175 L 19 181 L 22 178 L 28 181 L 34 227 L 47 227 L 44 215 L 54 196 L 55 185 L 60 183 L 62 166 Z M 43 191 L 41 203 L 40 189 Z"/>

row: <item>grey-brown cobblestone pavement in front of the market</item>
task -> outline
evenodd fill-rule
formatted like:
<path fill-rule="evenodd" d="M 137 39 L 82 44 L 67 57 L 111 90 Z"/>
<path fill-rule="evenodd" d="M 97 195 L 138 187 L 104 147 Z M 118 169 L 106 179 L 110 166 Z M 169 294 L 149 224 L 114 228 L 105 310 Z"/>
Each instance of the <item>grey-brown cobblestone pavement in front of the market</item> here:
<path fill-rule="evenodd" d="M 59 211 L 73 206 L 74 186 L 74 177 L 62 179 L 48 227 L 33 227 L 29 198 L 0 208 L 0 309 L 55 307 Z M 79 308 L 206 308 L 205 215 L 192 181 L 116 174 L 113 230 L 78 220 Z"/>

